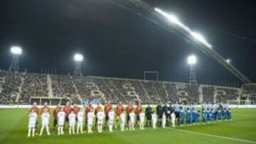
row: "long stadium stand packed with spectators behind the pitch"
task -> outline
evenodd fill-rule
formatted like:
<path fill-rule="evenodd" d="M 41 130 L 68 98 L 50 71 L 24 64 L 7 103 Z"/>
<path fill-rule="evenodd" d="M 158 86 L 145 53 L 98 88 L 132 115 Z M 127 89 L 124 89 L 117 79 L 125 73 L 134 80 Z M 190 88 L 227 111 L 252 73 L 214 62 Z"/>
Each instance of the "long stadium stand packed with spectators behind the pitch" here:
<path fill-rule="evenodd" d="M 256 94 L 256 84 L 246 84 L 241 89 L 183 82 L 147 81 L 113 77 L 78 77 L 69 74 L 38 74 L 0 71 L 0 102 L 29 103 L 31 97 L 58 104 L 60 99 L 75 102 L 100 100 L 127 104 L 188 101 L 189 103 L 239 100 L 240 96 Z M 255 96 L 256 97 L 256 96 Z M 39 100 L 38 100 L 39 101 Z"/>

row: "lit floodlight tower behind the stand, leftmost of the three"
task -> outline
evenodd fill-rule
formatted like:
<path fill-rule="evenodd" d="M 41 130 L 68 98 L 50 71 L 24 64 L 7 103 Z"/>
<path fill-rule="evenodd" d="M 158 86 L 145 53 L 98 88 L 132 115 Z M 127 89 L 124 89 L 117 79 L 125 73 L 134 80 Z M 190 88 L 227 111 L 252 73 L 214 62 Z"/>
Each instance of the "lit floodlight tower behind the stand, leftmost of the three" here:
<path fill-rule="evenodd" d="M 11 66 L 9 67 L 10 72 L 18 72 L 19 66 L 18 66 L 18 57 L 22 54 L 22 49 L 18 46 L 12 46 L 11 47 L 11 54 L 13 55 L 13 58 L 11 60 Z"/>

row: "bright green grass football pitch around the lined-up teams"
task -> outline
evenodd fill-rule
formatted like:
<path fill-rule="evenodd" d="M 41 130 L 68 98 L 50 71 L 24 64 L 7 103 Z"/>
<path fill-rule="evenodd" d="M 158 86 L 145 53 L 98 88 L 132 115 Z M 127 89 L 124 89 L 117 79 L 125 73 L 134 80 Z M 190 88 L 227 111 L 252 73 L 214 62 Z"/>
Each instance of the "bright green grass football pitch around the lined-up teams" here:
<path fill-rule="evenodd" d="M 52 127 L 50 121 L 50 127 Z M 256 143 L 256 109 L 233 109 L 233 121 L 222 121 L 196 126 L 174 128 L 146 128 L 144 131 L 107 131 L 90 135 L 50 135 L 27 138 L 28 115 L 26 109 L 0 109 L 1 144 L 133 144 L 133 143 L 186 143 L 186 144 L 236 144 Z M 67 128 L 66 128 L 67 129 Z"/>

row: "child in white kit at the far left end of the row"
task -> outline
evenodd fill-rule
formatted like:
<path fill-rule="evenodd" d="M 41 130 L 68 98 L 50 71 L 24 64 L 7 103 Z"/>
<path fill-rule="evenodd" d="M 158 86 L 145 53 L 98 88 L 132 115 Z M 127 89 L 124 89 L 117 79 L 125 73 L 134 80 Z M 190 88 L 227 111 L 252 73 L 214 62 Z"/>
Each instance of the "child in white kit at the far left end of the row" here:
<path fill-rule="evenodd" d="M 28 114 L 28 138 L 31 136 L 31 132 L 32 136 L 35 136 L 37 118 L 37 113 L 31 109 L 31 112 Z"/>

